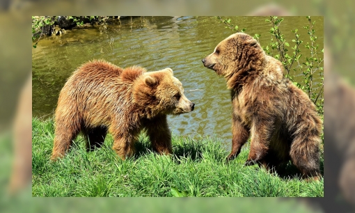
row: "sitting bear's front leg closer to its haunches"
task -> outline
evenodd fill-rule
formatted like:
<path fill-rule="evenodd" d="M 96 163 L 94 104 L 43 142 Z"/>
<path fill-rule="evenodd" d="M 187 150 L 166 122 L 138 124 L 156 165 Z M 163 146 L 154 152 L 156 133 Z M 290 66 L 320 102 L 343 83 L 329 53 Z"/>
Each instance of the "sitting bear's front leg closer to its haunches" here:
<path fill-rule="evenodd" d="M 246 166 L 251 166 L 255 163 L 267 166 L 265 156 L 269 149 L 274 123 L 258 117 L 259 116 L 255 116 L 251 127 L 251 145 L 248 159 L 245 162 Z"/>

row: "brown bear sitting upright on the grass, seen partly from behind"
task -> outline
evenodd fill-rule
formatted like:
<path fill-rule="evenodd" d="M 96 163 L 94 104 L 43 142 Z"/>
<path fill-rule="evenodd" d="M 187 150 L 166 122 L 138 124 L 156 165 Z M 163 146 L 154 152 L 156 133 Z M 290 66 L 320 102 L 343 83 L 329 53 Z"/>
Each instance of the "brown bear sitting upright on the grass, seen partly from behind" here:
<path fill-rule="evenodd" d="M 246 165 L 277 170 L 291 159 L 303 178 L 318 180 L 322 120 L 303 90 L 283 77 L 283 65 L 245 33 L 222 40 L 203 65 L 226 78 L 232 96 L 232 151 L 251 135 Z"/>

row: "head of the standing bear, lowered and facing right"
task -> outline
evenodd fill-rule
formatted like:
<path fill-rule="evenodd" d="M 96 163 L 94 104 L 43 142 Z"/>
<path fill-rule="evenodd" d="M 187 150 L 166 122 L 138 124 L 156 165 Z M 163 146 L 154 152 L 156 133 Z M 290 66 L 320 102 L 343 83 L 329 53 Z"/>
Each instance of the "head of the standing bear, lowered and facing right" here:
<path fill-rule="evenodd" d="M 134 84 L 133 97 L 135 104 L 148 112 L 148 117 L 187 113 L 195 106 L 185 97 L 184 88 L 171 68 L 144 72 Z"/>

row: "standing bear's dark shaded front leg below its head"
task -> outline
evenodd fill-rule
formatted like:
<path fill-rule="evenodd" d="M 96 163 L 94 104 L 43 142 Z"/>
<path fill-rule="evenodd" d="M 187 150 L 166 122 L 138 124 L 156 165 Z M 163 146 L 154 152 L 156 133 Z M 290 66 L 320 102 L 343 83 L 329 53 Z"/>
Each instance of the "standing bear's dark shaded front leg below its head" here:
<path fill-rule="evenodd" d="M 147 134 L 152 143 L 152 148 L 159 154 L 168 155 L 173 153 L 171 146 L 171 132 L 168 127 L 166 116 L 150 119 L 147 126 Z"/>

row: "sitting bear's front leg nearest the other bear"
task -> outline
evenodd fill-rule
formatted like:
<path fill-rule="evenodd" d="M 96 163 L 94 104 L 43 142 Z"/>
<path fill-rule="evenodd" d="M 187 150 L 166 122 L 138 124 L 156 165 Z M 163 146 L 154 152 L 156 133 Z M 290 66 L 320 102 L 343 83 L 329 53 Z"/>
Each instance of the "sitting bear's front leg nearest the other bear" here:
<path fill-rule="evenodd" d="M 242 146 L 248 141 L 250 132 L 248 127 L 242 124 L 239 116 L 233 114 L 232 119 L 232 150 L 227 157 L 227 160 L 235 159 L 240 153 Z"/>

